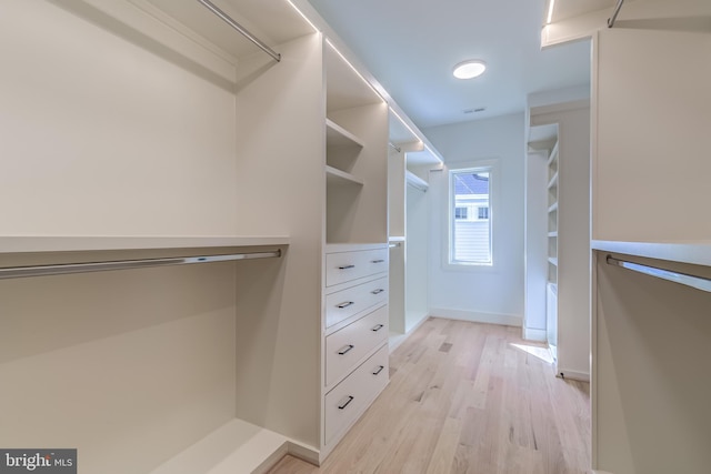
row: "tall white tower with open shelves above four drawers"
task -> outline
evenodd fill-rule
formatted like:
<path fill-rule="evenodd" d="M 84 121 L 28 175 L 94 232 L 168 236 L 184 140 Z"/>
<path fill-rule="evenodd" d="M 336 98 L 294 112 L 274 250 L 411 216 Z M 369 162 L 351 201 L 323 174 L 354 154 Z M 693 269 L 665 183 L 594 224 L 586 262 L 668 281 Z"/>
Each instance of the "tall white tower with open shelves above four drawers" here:
<path fill-rule="evenodd" d="M 321 458 L 388 369 L 388 104 L 327 40 Z"/>

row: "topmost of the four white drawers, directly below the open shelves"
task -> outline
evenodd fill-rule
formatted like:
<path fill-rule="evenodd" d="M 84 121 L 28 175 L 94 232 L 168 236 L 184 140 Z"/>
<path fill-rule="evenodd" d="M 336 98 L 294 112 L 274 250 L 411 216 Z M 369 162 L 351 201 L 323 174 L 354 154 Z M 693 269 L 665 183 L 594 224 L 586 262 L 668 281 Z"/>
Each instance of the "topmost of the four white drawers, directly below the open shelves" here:
<path fill-rule="evenodd" d="M 388 248 L 326 254 L 326 285 L 388 271 Z"/>

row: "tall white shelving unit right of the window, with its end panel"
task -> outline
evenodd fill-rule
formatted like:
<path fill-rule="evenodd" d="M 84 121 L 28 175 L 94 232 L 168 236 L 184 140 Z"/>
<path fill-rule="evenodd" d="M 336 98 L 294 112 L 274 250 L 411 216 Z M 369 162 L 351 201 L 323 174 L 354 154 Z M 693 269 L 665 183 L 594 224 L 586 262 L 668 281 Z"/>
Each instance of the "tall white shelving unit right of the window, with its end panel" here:
<path fill-rule="evenodd" d="M 539 289 L 545 280 L 545 333 L 555 359 L 555 373 L 569 379 L 590 380 L 590 100 L 589 90 L 581 99 L 534 103 L 530 107 L 530 125 L 544 133 L 541 141 L 550 150 L 544 175 L 534 173 L 528 186 L 531 195 L 545 195 L 545 228 L 542 241 L 529 240 L 527 248 L 528 289 Z M 530 98 L 531 100 L 531 98 Z M 548 130 L 550 129 L 550 131 Z M 530 160 L 540 157 L 531 157 Z M 530 163 L 533 171 L 535 163 Z M 539 179 L 540 177 L 540 179 Z M 535 178 L 538 182 L 531 180 Z M 537 201 L 527 203 L 539 209 Z M 542 218 L 542 216 L 541 216 Z M 529 229 L 542 224 L 529 213 Z M 545 254 L 545 270 L 538 264 Z M 535 300 L 530 299 L 531 304 Z M 527 307 L 528 320 L 535 319 L 537 307 Z"/>

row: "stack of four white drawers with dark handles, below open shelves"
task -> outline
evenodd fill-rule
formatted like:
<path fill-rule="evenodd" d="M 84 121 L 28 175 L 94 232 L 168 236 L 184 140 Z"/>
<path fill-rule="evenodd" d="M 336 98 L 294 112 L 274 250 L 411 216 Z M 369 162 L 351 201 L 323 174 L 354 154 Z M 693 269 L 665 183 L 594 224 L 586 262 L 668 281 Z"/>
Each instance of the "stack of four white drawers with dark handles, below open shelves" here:
<path fill-rule="evenodd" d="M 388 383 L 388 246 L 326 251 L 323 443 L 330 452 Z"/>

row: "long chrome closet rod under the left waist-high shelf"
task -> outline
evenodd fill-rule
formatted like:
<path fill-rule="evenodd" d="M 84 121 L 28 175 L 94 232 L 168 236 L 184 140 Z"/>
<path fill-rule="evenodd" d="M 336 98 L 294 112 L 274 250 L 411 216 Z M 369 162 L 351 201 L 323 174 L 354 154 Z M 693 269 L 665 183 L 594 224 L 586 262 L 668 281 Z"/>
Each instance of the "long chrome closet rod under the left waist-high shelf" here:
<path fill-rule="evenodd" d="M 149 266 L 186 265 L 191 263 L 227 262 L 232 260 L 269 259 L 281 256 L 281 250 L 253 253 L 231 253 L 204 256 L 177 256 L 166 259 L 118 260 L 111 262 L 60 263 L 0 268 L 0 280 L 23 276 L 61 275 L 68 273 L 104 272 L 109 270 L 146 269 Z"/>

